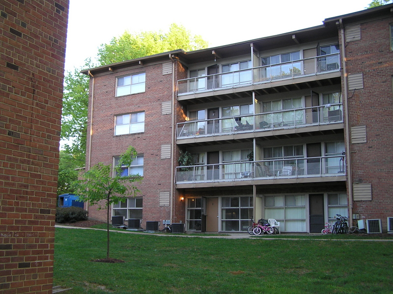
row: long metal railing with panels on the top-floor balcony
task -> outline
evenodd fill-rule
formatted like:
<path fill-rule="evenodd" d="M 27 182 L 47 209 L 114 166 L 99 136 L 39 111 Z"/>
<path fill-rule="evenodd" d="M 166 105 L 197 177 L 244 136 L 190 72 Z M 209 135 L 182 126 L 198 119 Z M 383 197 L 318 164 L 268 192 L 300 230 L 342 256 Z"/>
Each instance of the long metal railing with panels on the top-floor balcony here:
<path fill-rule="evenodd" d="M 178 80 L 177 96 L 339 72 L 339 64 L 340 56 L 336 53 L 252 69 Z"/>

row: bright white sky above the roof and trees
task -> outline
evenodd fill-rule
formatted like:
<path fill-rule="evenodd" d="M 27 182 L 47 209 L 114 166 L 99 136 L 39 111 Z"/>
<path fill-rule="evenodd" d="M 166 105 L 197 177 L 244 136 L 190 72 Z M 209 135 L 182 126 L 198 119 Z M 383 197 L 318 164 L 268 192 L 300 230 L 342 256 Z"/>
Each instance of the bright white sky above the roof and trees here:
<path fill-rule="evenodd" d="M 65 69 L 94 60 L 101 44 L 125 30 L 166 32 L 176 23 L 217 47 L 319 26 L 327 18 L 364 10 L 371 1 L 70 0 Z"/>

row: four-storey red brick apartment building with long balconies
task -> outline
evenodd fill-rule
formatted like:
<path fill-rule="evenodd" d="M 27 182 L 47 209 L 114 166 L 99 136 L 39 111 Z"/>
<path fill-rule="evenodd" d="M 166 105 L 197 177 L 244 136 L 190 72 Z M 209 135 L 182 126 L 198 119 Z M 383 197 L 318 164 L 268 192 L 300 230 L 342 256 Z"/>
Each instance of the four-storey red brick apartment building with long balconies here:
<path fill-rule="evenodd" d="M 187 231 L 320 232 L 381 219 L 392 198 L 393 5 L 237 44 L 146 56 L 90 75 L 86 167 L 129 145 L 140 195 L 112 215 Z M 179 151 L 194 164 L 178 166 Z M 102 211 L 88 207 L 92 218 Z M 374 222 L 370 222 L 374 224 Z"/>

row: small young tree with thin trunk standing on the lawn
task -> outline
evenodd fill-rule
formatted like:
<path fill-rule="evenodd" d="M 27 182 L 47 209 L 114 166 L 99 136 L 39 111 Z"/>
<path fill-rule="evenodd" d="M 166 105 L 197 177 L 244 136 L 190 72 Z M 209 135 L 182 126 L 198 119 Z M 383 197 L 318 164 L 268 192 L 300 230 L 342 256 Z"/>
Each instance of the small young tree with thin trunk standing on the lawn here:
<path fill-rule="evenodd" d="M 107 259 L 109 259 L 109 208 L 112 204 L 125 202 L 126 196 L 135 196 L 139 190 L 132 184 L 140 181 L 140 175 L 122 176 L 122 166 L 130 166 L 137 156 L 137 151 L 130 146 L 120 157 L 111 173 L 111 165 L 100 162 L 81 174 L 81 180 L 76 182 L 77 195 L 80 200 L 98 204 L 98 209 L 107 210 Z M 130 185 L 132 184 L 132 185 Z M 104 205 L 103 205 L 104 203 Z"/>

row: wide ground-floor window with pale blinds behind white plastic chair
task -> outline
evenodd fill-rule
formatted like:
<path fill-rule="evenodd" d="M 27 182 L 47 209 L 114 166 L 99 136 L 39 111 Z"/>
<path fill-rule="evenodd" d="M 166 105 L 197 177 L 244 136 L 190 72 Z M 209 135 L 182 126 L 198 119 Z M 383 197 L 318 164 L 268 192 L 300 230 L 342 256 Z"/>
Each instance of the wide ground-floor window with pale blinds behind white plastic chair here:
<path fill-rule="evenodd" d="M 306 232 L 306 196 L 265 196 L 264 218 L 280 221 L 284 232 Z M 282 223 L 282 224 L 281 224 Z"/>

